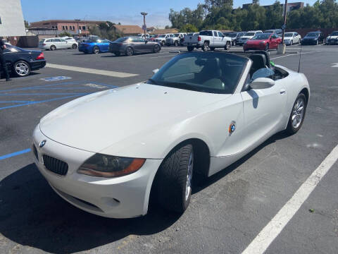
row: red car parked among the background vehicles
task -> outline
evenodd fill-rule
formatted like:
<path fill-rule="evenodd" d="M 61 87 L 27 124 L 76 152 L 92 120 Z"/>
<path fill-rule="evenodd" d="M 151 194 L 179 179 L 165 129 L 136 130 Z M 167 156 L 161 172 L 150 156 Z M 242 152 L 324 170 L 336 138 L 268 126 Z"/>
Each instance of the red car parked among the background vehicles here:
<path fill-rule="evenodd" d="M 262 33 L 254 36 L 252 39 L 247 40 L 244 43 L 244 52 L 247 50 L 265 50 L 277 49 L 278 44 L 282 42 L 282 38 L 276 34 Z"/>

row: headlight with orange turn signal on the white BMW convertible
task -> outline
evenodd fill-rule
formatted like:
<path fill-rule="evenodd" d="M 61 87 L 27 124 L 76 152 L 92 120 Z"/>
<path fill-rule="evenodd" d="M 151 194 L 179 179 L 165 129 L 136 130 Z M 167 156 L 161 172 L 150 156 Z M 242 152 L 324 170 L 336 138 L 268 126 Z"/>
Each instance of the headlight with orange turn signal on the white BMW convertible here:
<path fill-rule="evenodd" d="M 96 154 L 87 159 L 77 169 L 77 173 L 98 177 L 125 176 L 139 170 L 145 161 L 146 159 Z"/>

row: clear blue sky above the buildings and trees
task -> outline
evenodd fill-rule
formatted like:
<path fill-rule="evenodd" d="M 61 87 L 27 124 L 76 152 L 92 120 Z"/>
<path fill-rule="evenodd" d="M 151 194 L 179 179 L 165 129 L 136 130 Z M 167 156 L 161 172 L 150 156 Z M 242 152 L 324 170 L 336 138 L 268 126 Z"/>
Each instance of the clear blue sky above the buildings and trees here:
<path fill-rule="evenodd" d="M 252 0 L 234 0 L 234 8 L 251 2 Z M 261 0 L 260 4 L 268 5 L 274 2 L 275 0 Z M 304 2 L 312 5 L 315 0 Z M 199 3 L 204 3 L 204 0 L 21 0 L 23 17 L 29 23 L 39 20 L 79 18 L 109 20 L 123 25 L 142 25 L 143 18 L 140 13 L 146 11 L 148 13 L 146 25 L 159 28 L 171 25 L 168 19 L 170 8 L 175 11 L 185 7 L 194 9 Z"/>

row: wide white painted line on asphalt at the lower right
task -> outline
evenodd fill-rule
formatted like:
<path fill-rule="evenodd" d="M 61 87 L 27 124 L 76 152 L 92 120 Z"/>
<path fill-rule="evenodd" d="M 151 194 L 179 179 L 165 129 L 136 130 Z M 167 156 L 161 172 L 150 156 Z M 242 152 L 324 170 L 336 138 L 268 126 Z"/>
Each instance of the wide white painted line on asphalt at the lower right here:
<path fill-rule="evenodd" d="M 299 187 L 292 198 L 282 207 L 282 209 L 270 220 L 262 231 L 251 241 L 249 246 L 242 254 L 263 254 L 268 249 L 273 240 L 280 234 L 284 226 L 294 217 L 303 202 L 315 189 L 321 179 L 327 174 L 330 168 L 338 159 L 338 145 L 330 152 L 330 155 L 323 160 L 311 176 Z"/>

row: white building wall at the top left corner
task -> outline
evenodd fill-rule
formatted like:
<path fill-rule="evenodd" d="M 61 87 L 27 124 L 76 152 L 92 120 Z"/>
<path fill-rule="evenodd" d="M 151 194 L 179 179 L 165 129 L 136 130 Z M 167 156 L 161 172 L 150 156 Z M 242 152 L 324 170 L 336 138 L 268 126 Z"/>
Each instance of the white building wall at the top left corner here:
<path fill-rule="evenodd" d="M 0 0 L 0 37 L 24 36 L 25 23 L 20 0 Z"/>

